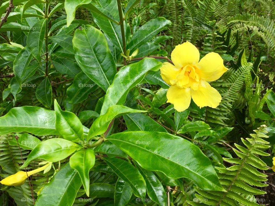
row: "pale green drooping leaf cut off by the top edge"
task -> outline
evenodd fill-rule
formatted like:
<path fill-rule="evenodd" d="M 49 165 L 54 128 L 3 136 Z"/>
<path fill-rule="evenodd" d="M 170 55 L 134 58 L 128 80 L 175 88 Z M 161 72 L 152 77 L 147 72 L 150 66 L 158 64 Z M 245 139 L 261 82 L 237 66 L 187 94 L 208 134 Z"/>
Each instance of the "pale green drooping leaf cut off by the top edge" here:
<path fill-rule="evenodd" d="M 76 9 L 83 4 L 88 4 L 90 2 L 91 0 L 65 0 L 64 7 L 67 14 L 67 27 L 74 20 Z"/>

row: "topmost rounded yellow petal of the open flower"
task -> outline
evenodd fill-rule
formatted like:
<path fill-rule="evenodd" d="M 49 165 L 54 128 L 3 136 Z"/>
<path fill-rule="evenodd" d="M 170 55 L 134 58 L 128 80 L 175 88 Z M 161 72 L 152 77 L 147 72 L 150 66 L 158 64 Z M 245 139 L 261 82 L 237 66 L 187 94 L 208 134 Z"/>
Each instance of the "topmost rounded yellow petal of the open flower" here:
<path fill-rule="evenodd" d="M 177 68 L 182 68 L 188 64 L 197 64 L 200 60 L 200 53 L 192 43 L 186 41 L 174 48 L 171 59 Z"/>

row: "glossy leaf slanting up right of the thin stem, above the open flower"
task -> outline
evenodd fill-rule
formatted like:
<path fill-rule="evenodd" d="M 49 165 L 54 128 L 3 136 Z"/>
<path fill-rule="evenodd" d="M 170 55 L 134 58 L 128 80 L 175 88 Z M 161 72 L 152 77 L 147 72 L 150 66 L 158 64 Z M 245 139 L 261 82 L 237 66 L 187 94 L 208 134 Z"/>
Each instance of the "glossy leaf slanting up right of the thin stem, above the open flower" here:
<path fill-rule="evenodd" d="M 166 25 L 171 25 L 172 22 L 164 17 L 152 19 L 142 25 L 134 34 L 131 41 L 127 44 L 127 48 L 135 50 L 142 44 L 151 40 L 158 34 Z"/>

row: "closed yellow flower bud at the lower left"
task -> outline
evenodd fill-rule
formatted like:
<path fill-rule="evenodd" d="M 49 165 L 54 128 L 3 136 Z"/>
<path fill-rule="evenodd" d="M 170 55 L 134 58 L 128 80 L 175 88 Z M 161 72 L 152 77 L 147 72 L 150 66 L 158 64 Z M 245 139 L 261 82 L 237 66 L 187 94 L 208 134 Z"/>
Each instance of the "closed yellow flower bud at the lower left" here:
<path fill-rule="evenodd" d="M 19 172 L 15 173 L 14 175 L 10 175 L 9 177 L 6 177 L 2 181 L 0 181 L 0 183 L 3 184 L 3 185 L 8 185 L 8 186 L 23 185 L 25 183 L 26 179 L 28 177 L 30 177 L 30 175 L 33 175 L 33 174 L 38 173 L 38 172 L 41 172 L 44 169 L 50 170 L 47 167 L 49 167 L 51 165 L 52 165 L 52 163 L 47 163 L 43 167 L 40 167 L 38 169 L 29 171 L 29 172 L 19 171 Z"/>

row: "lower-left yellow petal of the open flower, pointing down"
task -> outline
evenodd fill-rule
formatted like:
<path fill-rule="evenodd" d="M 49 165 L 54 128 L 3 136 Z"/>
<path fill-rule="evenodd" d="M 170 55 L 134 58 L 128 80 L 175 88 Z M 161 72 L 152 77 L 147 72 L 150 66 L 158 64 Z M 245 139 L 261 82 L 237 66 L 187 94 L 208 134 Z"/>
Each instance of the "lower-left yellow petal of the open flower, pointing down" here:
<path fill-rule="evenodd" d="M 191 102 L 191 89 L 179 88 L 176 85 L 170 86 L 166 94 L 167 102 L 174 104 L 175 110 L 182 112 L 186 110 Z"/>

